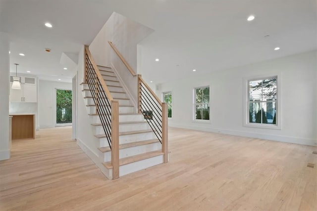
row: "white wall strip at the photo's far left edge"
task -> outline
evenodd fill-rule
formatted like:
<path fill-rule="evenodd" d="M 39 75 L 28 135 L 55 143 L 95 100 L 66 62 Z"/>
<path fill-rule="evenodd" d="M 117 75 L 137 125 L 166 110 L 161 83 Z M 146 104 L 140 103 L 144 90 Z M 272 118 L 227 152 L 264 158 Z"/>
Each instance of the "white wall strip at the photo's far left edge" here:
<path fill-rule="evenodd" d="M 0 160 L 10 158 L 9 142 L 9 40 L 0 32 Z"/>

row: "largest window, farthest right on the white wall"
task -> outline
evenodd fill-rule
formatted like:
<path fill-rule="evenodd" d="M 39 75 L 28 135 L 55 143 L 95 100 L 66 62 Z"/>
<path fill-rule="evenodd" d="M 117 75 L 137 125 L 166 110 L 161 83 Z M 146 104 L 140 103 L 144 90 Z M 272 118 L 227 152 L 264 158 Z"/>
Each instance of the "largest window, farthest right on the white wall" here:
<path fill-rule="evenodd" d="M 248 123 L 276 126 L 277 77 L 249 80 L 248 86 Z"/>

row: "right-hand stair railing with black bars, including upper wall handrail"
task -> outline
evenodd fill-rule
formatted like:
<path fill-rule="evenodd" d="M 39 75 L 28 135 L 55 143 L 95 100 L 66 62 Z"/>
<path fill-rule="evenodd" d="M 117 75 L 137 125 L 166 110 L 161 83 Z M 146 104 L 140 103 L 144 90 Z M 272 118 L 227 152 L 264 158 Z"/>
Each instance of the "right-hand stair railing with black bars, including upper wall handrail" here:
<path fill-rule="evenodd" d="M 131 75 L 137 76 L 115 45 L 110 41 L 108 43 Z M 167 107 L 167 103 L 162 103 L 150 86 L 142 79 L 142 76 L 138 75 L 138 113 L 143 114 L 144 119 L 162 144 L 164 163 L 168 162 Z"/>

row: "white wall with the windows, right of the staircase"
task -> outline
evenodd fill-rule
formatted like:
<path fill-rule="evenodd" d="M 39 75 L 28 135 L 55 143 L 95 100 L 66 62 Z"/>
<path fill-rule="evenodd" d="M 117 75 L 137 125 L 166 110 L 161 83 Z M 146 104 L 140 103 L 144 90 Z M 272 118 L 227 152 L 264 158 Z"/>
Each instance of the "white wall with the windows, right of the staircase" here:
<path fill-rule="evenodd" d="M 291 143 L 317 145 L 317 52 L 306 52 L 261 63 L 231 68 L 207 75 L 193 72 L 191 78 L 160 85 L 172 91 L 171 127 L 183 127 Z M 280 75 L 282 128 L 243 126 L 243 78 Z M 211 123 L 196 123 L 193 88 L 210 85 Z"/>

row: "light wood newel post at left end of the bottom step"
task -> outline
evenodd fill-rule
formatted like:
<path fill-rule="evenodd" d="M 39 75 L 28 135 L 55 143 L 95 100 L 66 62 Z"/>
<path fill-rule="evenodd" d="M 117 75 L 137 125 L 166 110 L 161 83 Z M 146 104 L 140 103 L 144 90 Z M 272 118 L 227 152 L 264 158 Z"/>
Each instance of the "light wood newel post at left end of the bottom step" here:
<path fill-rule="evenodd" d="M 111 100 L 111 164 L 112 179 L 119 178 L 119 102 Z"/>

